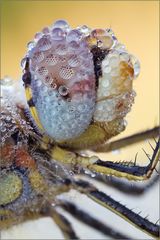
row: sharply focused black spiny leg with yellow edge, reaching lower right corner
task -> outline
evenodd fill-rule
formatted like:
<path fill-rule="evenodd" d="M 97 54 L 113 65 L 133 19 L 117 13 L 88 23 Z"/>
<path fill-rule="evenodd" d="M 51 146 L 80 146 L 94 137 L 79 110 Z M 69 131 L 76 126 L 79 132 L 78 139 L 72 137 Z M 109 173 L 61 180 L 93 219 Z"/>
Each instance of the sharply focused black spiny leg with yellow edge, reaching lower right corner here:
<path fill-rule="evenodd" d="M 149 220 L 138 215 L 137 213 L 134 213 L 132 210 L 117 202 L 110 196 L 96 189 L 89 182 L 78 180 L 75 182 L 75 184 L 78 191 L 86 194 L 93 201 L 116 213 L 123 219 L 138 227 L 140 230 L 143 230 L 152 237 L 160 236 L 159 225 L 150 222 Z"/>

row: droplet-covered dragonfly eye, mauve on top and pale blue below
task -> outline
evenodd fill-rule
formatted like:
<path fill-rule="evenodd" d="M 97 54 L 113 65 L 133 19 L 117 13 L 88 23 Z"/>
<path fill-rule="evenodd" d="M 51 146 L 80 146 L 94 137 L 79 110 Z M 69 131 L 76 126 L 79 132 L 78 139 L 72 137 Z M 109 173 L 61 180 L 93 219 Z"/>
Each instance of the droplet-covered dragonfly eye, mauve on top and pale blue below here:
<path fill-rule="evenodd" d="M 96 99 L 93 56 L 81 31 L 58 21 L 28 55 L 43 131 L 56 141 L 79 136 L 91 123 Z"/>

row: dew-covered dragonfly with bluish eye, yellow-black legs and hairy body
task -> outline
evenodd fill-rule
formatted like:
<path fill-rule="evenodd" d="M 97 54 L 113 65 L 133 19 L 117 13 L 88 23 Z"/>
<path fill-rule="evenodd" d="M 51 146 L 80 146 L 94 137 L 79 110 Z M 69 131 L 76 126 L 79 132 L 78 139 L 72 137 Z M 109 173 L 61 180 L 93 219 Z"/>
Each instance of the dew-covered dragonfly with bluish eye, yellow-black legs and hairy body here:
<path fill-rule="evenodd" d="M 139 166 L 137 157 L 133 162 L 113 162 L 96 156 L 158 136 L 159 127 L 154 127 L 110 140 L 126 128 L 125 117 L 136 96 L 133 80 L 140 72 L 139 61 L 110 28 L 71 29 L 66 21 L 58 20 L 36 33 L 21 65 L 23 86 L 18 90 L 14 82 L 1 80 L 0 229 L 49 216 L 64 238 L 79 239 L 60 213 L 63 209 L 110 238 L 131 239 L 128 233 L 59 197 L 76 190 L 159 238 L 157 223 L 86 180 L 94 178 L 136 195 L 147 187 L 130 188 L 129 182 L 146 181 L 156 171 L 160 159 L 157 139 L 151 145 L 152 156 L 146 153 L 146 166 Z M 95 155 L 88 156 L 87 150 Z"/>

